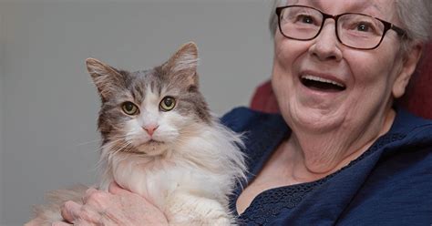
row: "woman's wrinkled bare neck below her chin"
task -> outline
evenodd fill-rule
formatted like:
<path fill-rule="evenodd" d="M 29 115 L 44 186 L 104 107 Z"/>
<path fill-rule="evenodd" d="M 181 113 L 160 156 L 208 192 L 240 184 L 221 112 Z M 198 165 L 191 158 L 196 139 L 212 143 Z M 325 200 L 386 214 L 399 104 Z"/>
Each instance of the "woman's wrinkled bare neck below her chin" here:
<path fill-rule="evenodd" d="M 290 139 L 280 147 L 282 152 L 275 154 L 281 155 L 280 159 L 290 161 L 285 166 L 290 168 L 287 171 L 292 174 L 290 177 L 293 180 L 317 180 L 360 157 L 391 128 L 395 116 L 395 111 L 390 109 L 382 121 L 373 122 L 380 126 L 356 133 L 354 130 L 343 129 L 319 135 L 293 131 Z"/>

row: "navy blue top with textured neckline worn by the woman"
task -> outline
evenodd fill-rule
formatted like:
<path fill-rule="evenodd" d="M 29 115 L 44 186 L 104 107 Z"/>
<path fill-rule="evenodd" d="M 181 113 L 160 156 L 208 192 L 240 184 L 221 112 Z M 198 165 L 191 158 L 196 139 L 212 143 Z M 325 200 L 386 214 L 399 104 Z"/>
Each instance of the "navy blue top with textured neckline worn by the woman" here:
<path fill-rule="evenodd" d="M 432 121 L 396 110 L 395 122 L 358 159 L 313 182 L 265 190 L 241 225 L 432 225 Z M 221 118 L 246 132 L 248 181 L 291 130 L 283 118 L 235 108 Z M 242 192 L 231 197 L 231 210 Z M 238 214 L 237 214 L 238 215 Z"/>

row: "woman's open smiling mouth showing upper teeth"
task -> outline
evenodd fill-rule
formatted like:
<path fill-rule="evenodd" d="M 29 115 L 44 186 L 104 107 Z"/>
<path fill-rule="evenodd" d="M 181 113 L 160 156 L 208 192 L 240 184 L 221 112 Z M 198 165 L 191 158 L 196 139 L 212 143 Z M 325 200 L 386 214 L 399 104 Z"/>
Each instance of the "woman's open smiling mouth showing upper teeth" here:
<path fill-rule="evenodd" d="M 323 92 L 340 92 L 345 90 L 345 85 L 324 77 L 303 75 L 300 80 L 304 87 Z"/>

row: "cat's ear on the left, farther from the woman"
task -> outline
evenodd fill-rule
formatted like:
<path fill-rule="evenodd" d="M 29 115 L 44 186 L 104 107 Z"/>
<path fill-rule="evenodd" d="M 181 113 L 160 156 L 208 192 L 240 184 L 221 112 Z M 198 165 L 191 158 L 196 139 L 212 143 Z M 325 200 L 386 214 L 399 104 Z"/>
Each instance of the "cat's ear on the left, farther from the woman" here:
<path fill-rule="evenodd" d="M 98 92 L 102 100 L 107 100 L 109 96 L 124 87 L 125 78 L 117 69 L 110 67 L 97 59 L 87 58 L 87 71 L 93 79 L 93 83 L 98 87 Z"/>

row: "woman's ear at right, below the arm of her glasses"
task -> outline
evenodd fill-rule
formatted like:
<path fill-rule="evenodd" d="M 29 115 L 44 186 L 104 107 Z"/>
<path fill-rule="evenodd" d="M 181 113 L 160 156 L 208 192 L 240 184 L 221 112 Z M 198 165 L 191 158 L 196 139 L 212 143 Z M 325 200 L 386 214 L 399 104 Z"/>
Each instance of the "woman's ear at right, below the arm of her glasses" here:
<path fill-rule="evenodd" d="M 409 79 L 416 71 L 417 63 L 420 60 L 423 49 L 422 43 L 417 43 L 406 52 L 405 56 L 402 56 L 402 68 L 399 75 L 396 77 L 396 81 L 393 84 L 392 94 L 393 98 L 400 98 L 404 95 L 406 86 L 408 85 Z"/>

